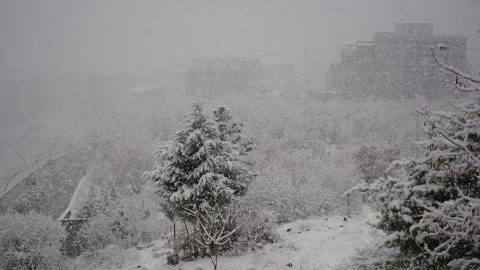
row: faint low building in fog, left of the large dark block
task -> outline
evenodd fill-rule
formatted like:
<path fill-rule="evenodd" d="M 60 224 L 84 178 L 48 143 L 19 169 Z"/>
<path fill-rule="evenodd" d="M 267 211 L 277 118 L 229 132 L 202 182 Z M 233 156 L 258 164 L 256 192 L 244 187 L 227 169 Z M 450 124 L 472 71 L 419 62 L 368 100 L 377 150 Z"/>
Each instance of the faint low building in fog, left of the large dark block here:
<path fill-rule="evenodd" d="M 185 72 L 186 93 L 201 91 L 203 95 L 218 96 L 248 92 L 270 96 L 293 89 L 298 63 L 288 56 L 193 59 Z"/>

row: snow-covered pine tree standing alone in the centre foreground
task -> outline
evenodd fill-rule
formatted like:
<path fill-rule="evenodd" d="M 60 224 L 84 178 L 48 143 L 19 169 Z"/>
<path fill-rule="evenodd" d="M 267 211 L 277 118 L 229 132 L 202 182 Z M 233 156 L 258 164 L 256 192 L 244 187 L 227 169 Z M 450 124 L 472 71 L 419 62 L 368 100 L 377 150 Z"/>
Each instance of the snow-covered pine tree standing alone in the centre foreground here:
<path fill-rule="evenodd" d="M 202 204 L 217 197 L 218 206 L 224 208 L 235 196 L 244 195 L 253 175 L 242 166 L 239 145 L 219 128 L 228 117 L 215 122 L 200 99 L 191 104 L 191 110 L 184 128 L 155 152 L 156 168 L 144 176 L 158 183 L 155 193 L 168 202 L 170 212 L 194 222 L 191 213 L 201 211 Z M 222 192 L 216 195 L 215 190 Z"/>

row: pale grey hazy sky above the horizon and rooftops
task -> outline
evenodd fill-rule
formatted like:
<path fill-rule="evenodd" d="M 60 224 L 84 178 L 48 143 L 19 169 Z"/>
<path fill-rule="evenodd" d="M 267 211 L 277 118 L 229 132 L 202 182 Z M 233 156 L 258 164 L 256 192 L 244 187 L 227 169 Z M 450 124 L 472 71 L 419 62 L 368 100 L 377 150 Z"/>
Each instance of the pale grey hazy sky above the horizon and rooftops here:
<path fill-rule="evenodd" d="M 480 49 L 480 0 L 1 0 L 0 68 L 302 55 L 307 42 L 312 60 L 332 61 L 336 44 L 401 21 L 435 22 Z"/>

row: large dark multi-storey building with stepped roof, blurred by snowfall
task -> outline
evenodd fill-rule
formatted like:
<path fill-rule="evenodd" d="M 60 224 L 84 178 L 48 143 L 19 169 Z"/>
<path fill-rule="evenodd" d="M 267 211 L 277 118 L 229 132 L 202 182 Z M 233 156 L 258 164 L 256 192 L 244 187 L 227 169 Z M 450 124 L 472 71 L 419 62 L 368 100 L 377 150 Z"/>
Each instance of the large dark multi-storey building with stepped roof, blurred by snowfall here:
<path fill-rule="evenodd" d="M 466 43 L 463 35 L 434 35 L 433 23 L 396 23 L 395 32 L 342 43 L 340 63 L 327 71 L 327 88 L 346 97 L 443 95 L 452 79 L 437 71 L 429 47 L 445 45 L 435 55 L 466 70 Z"/>

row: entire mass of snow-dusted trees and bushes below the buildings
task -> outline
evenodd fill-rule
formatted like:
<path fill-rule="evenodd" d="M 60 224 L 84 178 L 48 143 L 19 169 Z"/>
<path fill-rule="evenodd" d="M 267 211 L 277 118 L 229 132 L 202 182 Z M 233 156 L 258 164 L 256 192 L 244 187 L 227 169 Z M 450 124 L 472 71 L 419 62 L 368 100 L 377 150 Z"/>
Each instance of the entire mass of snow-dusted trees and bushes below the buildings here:
<path fill-rule="evenodd" d="M 471 82 L 468 87 L 478 84 L 444 68 Z M 123 253 L 125 248 L 165 234 L 172 237 L 170 263 L 210 257 L 216 266 L 218 256 L 279 241 L 275 230 L 281 224 L 331 214 L 347 219 L 363 203 L 380 209 L 378 226 L 388 237 L 381 249 L 359 251 L 379 260 L 356 257 L 349 267 L 367 262 L 372 268 L 478 264 L 477 133 L 465 126 L 476 119 L 477 101 L 464 103 L 457 114 L 424 107 L 422 120 L 413 110 L 416 100 L 319 102 L 290 95 L 197 100 L 182 118 L 188 102 L 172 94 L 164 97 L 163 107 L 149 104 L 142 115 L 121 115 L 130 120 L 97 130 L 81 148 L 86 154 L 75 160 L 84 165 L 55 160 L 30 176 L 45 180 L 25 186 L 16 200 L 3 198 L 1 222 L 28 224 L 22 226 L 35 228 L 52 243 L 49 253 L 32 255 L 34 244 L 21 244 L 21 230 L 2 226 L 1 237 L 5 230 L 18 230 L 9 232 L 18 239 L 1 241 L 2 254 L 21 251 L 5 260 L 5 267 L 62 268 L 70 256 L 74 263 L 63 269 L 120 268 L 139 259 Z M 432 101 L 431 107 L 442 102 Z M 120 116 L 110 112 L 105 117 Z M 140 118 L 146 120 L 135 120 Z M 417 131 L 423 121 L 426 134 Z M 412 144 L 415 140 L 426 143 Z M 394 160 L 401 160 L 396 167 L 390 166 Z M 55 179 L 66 182 L 87 173 L 89 196 L 75 215 L 83 223 L 72 234 L 46 217 L 51 213 L 43 210 L 42 200 L 63 183 Z M 55 233 L 47 236 L 42 226 L 50 223 Z M 65 239 L 74 253 L 62 248 Z"/>

